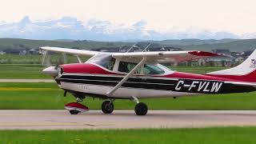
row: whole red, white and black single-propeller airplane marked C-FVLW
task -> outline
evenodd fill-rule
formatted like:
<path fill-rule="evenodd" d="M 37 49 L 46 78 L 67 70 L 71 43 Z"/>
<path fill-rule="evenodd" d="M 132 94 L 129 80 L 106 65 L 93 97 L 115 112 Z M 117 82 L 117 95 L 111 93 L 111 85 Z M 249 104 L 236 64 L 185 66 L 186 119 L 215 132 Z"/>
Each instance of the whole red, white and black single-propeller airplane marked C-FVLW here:
<path fill-rule="evenodd" d="M 74 54 L 79 63 L 50 66 L 43 73 L 54 77 L 58 86 L 77 98 L 66 104 L 70 114 L 88 110 L 78 103 L 88 97 L 106 99 L 102 112 L 114 110 L 115 99 L 132 99 L 137 102 L 137 115 L 145 115 L 148 107 L 140 98 L 178 97 L 196 94 L 242 93 L 256 90 L 256 50 L 242 64 L 227 70 L 207 74 L 189 74 L 173 71 L 159 62 L 182 62 L 218 56 L 204 51 L 154 51 L 108 53 L 42 47 L 42 50 Z M 46 54 L 45 53 L 45 54 Z M 82 62 L 79 56 L 91 58 Z"/>

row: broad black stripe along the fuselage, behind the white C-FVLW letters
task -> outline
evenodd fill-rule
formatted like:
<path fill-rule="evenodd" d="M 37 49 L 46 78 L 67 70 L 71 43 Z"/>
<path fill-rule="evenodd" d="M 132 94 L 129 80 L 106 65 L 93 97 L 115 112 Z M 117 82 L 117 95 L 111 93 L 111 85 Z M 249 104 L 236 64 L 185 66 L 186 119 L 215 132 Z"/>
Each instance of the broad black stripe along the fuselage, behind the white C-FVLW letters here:
<path fill-rule="evenodd" d="M 122 80 L 122 77 L 111 77 L 111 76 L 100 76 L 100 75 L 73 75 L 73 74 L 63 74 L 61 78 L 58 78 L 61 82 L 71 82 L 80 84 L 91 84 L 100 86 L 116 86 L 118 82 Z M 183 86 L 181 85 L 182 83 Z M 191 86 L 192 82 L 197 82 L 197 85 Z M 202 85 L 201 90 L 198 89 L 200 83 L 205 83 Z M 172 90 L 178 92 L 189 92 L 189 93 L 205 93 L 205 94 L 225 94 L 225 93 L 239 93 L 239 92 L 249 92 L 255 89 L 252 86 L 237 86 L 234 84 L 229 84 L 225 82 L 222 83 L 222 87 L 215 91 L 205 91 L 207 89 L 212 89 L 212 84 L 218 81 L 206 81 L 206 80 L 193 80 L 193 79 L 157 79 L 157 78 L 128 78 L 127 81 L 122 84 L 122 87 L 129 88 L 141 88 L 141 89 L 151 89 L 151 90 Z M 209 83 L 209 84 L 207 84 Z M 191 86 L 191 88 L 190 88 Z M 203 87 L 204 86 L 204 87 Z M 181 89 L 180 89 L 181 88 Z"/>

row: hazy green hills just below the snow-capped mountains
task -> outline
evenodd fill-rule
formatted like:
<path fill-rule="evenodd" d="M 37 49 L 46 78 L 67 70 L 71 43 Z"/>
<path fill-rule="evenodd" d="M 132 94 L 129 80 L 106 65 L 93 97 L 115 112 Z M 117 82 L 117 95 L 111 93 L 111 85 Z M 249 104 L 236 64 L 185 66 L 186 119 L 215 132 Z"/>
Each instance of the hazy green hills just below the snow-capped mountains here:
<path fill-rule="evenodd" d="M 200 39 L 181 39 L 181 40 L 164 40 L 150 41 L 151 46 L 174 46 L 184 50 L 214 50 L 229 49 L 231 51 L 244 51 L 256 49 L 256 39 L 221 39 L 221 40 L 200 40 Z M 143 43 L 143 42 L 140 42 Z M 148 43 L 148 42 L 145 42 Z M 30 40 L 18 38 L 0 38 L 0 50 L 6 49 L 38 49 L 41 46 L 58 46 L 75 49 L 95 49 L 95 48 L 111 48 L 118 46 L 132 46 L 134 42 L 95 42 L 95 41 L 74 41 L 70 39 L 61 39 L 54 41 L 46 40 Z M 146 45 L 145 45 L 146 46 Z"/>

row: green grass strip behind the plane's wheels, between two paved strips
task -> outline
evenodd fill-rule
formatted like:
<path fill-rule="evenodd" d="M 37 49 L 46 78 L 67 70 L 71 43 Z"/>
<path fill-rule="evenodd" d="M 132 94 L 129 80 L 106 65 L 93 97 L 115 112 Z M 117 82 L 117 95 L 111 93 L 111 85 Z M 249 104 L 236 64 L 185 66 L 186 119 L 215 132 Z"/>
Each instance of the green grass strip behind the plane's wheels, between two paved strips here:
<path fill-rule="evenodd" d="M 55 83 L 0 83 L 0 109 L 11 110 L 62 110 L 75 98 L 68 94 L 63 97 Z M 256 93 L 210 94 L 182 98 L 142 99 L 150 110 L 256 110 Z M 102 100 L 86 98 L 82 102 L 90 110 L 98 110 Z M 115 110 L 134 110 L 135 103 L 130 100 L 116 100 Z"/>

